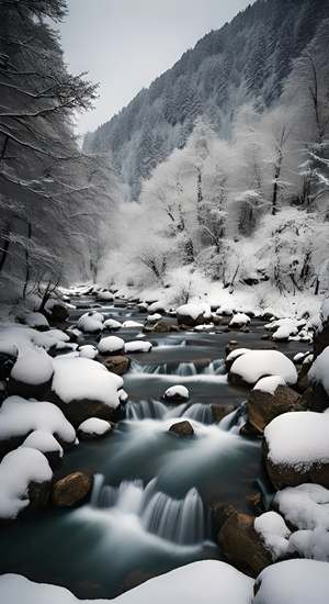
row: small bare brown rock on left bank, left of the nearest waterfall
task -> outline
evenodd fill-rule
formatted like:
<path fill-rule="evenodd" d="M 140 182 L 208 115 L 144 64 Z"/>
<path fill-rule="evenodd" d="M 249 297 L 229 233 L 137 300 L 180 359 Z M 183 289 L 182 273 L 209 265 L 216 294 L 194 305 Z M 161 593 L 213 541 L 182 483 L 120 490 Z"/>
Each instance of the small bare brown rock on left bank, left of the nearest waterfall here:
<path fill-rule="evenodd" d="M 59 507 L 73 507 L 89 495 L 93 478 L 84 472 L 72 472 L 53 485 L 52 501 Z"/>

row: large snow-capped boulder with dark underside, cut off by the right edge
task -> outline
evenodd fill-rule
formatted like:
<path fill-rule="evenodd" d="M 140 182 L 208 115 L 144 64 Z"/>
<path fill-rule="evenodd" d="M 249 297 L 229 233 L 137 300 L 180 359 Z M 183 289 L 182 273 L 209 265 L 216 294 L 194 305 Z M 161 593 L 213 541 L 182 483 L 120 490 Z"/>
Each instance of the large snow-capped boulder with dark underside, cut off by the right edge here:
<path fill-rule="evenodd" d="M 275 417 L 264 430 L 264 455 L 275 489 L 315 482 L 329 486 L 329 414 L 300 411 Z"/>

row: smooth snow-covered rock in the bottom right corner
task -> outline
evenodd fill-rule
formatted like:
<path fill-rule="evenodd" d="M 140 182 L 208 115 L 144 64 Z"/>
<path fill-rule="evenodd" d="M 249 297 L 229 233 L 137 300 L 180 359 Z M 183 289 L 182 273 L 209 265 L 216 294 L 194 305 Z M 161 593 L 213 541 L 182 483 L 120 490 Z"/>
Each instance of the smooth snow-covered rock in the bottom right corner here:
<path fill-rule="evenodd" d="M 262 571 L 252 604 L 328 604 L 326 562 L 286 560 Z"/>

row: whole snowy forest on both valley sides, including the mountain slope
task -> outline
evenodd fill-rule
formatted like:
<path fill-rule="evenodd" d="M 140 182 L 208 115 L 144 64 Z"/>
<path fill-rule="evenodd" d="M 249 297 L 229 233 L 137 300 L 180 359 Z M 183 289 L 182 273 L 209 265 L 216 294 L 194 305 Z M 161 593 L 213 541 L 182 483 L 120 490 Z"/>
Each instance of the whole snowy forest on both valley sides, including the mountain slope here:
<path fill-rule="evenodd" d="M 328 288 L 327 2 L 259 0 L 83 150 L 73 116 L 97 88 L 64 64 L 54 24 L 65 1 L 0 8 L 0 271 L 10 290 L 180 283 L 184 301 L 209 281 Z"/>

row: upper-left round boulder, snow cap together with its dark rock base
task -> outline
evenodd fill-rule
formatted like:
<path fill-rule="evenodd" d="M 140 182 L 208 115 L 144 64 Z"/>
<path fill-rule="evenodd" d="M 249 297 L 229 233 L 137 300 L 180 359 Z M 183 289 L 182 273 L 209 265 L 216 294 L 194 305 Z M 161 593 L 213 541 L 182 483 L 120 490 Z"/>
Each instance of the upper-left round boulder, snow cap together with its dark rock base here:
<path fill-rule="evenodd" d="M 26 348 L 19 354 L 11 370 L 8 391 L 39 399 L 45 394 L 53 372 L 53 359 L 43 348 Z"/>

